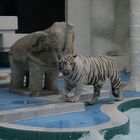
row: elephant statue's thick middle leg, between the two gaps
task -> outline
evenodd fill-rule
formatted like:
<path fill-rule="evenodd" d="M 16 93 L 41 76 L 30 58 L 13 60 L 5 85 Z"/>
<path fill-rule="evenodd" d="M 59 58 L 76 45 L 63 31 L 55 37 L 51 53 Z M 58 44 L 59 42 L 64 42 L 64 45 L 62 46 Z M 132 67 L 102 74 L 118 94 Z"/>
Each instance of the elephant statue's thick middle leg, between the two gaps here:
<path fill-rule="evenodd" d="M 29 89 L 31 96 L 40 96 L 42 93 L 42 82 L 43 82 L 44 67 L 29 62 Z"/>

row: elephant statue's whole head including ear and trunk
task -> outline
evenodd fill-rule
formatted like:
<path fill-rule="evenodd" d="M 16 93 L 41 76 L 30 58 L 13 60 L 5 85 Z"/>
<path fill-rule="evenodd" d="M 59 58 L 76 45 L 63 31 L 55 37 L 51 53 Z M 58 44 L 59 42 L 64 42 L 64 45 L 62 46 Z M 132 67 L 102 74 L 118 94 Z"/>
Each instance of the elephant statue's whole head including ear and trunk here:
<path fill-rule="evenodd" d="M 73 53 L 73 25 L 56 22 L 48 30 L 34 34 L 33 42 L 34 45 L 30 46 L 31 54 L 46 65 L 54 66 L 62 55 Z"/>

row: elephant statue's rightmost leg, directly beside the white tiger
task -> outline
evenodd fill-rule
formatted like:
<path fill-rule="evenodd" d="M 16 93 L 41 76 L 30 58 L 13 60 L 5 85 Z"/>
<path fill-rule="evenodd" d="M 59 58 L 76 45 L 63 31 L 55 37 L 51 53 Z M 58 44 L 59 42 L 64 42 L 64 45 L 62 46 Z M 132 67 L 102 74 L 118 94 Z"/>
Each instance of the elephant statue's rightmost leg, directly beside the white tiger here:
<path fill-rule="evenodd" d="M 58 70 L 47 70 L 45 73 L 45 89 L 48 91 L 48 94 L 57 93 L 57 78 L 59 71 Z"/>

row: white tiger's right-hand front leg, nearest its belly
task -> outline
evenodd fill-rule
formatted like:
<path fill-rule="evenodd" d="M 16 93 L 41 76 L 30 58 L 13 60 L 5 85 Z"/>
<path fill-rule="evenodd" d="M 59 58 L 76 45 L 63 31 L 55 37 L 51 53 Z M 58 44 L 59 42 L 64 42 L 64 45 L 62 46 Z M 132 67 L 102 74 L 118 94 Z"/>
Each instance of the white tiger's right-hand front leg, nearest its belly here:
<path fill-rule="evenodd" d="M 73 97 L 71 97 L 69 99 L 69 102 L 79 102 L 80 96 L 81 96 L 81 92 L 83 89 L 83 83 L 79 82 L 76 87 L 75 87 L 75 94 Z"/>

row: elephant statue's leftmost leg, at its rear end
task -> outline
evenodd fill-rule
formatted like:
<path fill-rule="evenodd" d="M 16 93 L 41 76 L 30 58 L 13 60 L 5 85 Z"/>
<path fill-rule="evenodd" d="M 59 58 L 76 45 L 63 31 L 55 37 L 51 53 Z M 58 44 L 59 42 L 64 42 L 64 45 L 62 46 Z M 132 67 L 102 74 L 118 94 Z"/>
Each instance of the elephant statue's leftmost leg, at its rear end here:
<path fill-rule="evenodd" d="M 11 65 L 11 81 L 10 91 L 16 91 L 23 88 L 25 70 L 21 63 L 14 62 L 13 57 L 10 57 Z M 25 68 L 25 67 L 24 67 Z"/>

